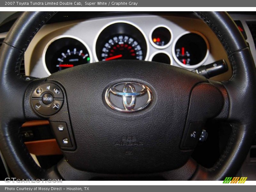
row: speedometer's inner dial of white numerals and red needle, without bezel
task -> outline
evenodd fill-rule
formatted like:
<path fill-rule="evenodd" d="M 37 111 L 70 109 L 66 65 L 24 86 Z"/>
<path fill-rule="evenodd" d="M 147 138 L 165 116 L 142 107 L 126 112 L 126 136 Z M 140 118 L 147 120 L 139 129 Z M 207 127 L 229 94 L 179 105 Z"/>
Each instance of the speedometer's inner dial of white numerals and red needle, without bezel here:
<path fill-rule="evenodd" d="M 134 59 L 142 60 L 140 44 L 131 36 L 116 35 L 110 38 L 102 48 L 101 60 Z"/>

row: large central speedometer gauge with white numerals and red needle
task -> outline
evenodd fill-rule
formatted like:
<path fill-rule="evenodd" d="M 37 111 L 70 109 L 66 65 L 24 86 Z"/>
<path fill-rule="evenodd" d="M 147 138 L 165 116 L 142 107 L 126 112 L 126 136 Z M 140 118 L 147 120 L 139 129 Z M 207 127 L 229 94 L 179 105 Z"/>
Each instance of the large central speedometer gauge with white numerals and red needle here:
<path fill-rule="evenodd" d="M 96 61 L 147 60 L 148 41 L 134 23 L 115 21 L 100 31 L 95 42 Z"/>

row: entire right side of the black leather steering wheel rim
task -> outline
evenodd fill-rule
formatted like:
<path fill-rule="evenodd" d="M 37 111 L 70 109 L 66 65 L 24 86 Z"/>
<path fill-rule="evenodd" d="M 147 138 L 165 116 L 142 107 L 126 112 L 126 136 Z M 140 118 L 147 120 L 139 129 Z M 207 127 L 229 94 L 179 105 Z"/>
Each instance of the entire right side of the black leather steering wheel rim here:
<path fill-rule="evenodd" d="M 228 122 L 232 126 L 232 134 L 216 164 L 211 169 L 200 166 L 192 179 L 223 180 L 228 175 L 236 175 L 252 144 L 256 124 L 256 70 L 243 36 L 233 22 L 227 21 L 225 13 L 198 14 L 220 39 L 233 68 L 231 79 L 223 82 L 229 97 Z"/>

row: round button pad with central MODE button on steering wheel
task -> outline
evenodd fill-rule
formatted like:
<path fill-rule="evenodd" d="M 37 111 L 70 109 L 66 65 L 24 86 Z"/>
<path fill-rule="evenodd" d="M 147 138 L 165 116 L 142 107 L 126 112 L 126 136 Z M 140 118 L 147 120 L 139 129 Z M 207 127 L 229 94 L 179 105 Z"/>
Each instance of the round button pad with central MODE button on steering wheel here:
<path fill-rule="evenodd" d="M 32 94 L 32 105 L 36 112 L 43 116 L 57 113 L 63 104 L 63 92 L 59 85 L 44 83 Z"/>

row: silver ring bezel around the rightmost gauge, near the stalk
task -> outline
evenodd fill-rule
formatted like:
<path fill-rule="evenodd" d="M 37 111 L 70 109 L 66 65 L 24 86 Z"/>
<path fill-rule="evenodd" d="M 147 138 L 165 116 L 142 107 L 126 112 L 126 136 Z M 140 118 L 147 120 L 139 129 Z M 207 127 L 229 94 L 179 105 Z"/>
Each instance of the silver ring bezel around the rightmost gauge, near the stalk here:
<path fill-rule="evenodd" d="M 206 54 L 205 54 L 204 59 L 203 59 L 200 63 L 198 63 L 198 64 L 196 64 L 196 65 L 184 65 L 184 64 L 181 63 L 180 60 L 176 57 L 176 53 L 175 53 L 175 46 L 176 46 L 177 41 L 180 39 L 181 36 L 186 35 L 186 34 L 189 34 L 189 33 L 195 33 L 195 34 L 201 36 L 201 37 L 204 39 L 204 41 L 205 41 L 205 43 L 206 43 L 206 47 L 207 47 L 207 51 L 206 51 Z M 173 42 L 173 44 L 172 44 L 172 56 L 173 56 L 174 60 L 176 61 L 176 63 L 178 63 L 182 68 L 195 69 L 195 68 L 200 67 L 200 66 L 203 65 L 204 62 L 207 60 L 207 58 L 208 58 L 208 56 L 209 56 L 209 53 L 210 53 L 210 45 L 209 45 L 209 42 L 208 42 L 207 38 L 206 38 L 202 33 L 198 32 L 198 31 L 185 31 L 184 33 L 182 33 L 182 34 L 180 34 L 178 37 L 176 37 L 175 40 L 174 40 L 174 42 Z"/>

